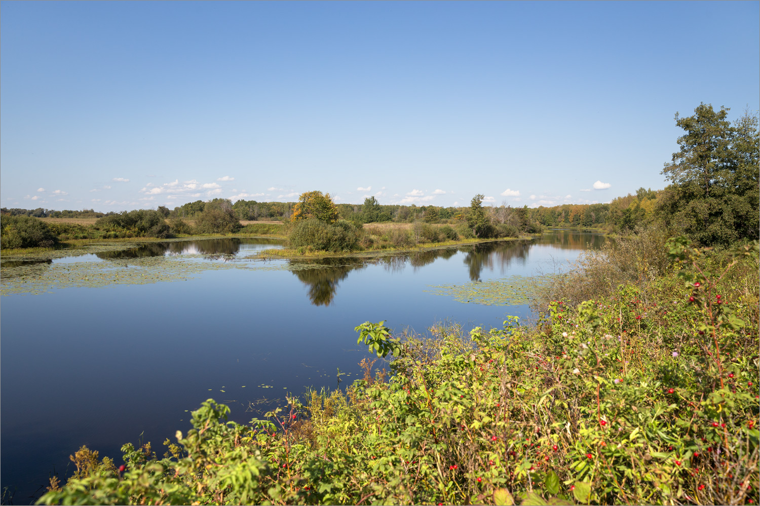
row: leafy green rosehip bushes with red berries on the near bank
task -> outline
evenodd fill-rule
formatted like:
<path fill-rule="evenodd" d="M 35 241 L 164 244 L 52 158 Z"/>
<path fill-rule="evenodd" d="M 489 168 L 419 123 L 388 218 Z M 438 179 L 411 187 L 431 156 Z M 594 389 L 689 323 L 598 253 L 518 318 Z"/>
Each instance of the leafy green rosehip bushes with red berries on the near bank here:
<path fill-rule="evenodd" d="M 119 471 L 80 450 L 40 502 L 757 504 L 757 243 L 716 267 L 668 248 L 646 297 L 549 302 L 530 329 L 396 341 L 366 322 L 388 381 L 364 360 L 346 391 L 250 425 L 207 400 L 163 459 L 125 444 Z"/>

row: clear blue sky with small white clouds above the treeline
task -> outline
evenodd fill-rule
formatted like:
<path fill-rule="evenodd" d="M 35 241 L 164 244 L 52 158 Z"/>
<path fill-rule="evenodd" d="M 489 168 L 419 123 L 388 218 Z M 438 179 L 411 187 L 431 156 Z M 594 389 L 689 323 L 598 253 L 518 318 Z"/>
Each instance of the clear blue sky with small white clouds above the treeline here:
<path fill-rule="evenodd" d="M 467 205 L 663 188 L 758 109 L 760 2 L 2 2 L 0 203 Z"/>

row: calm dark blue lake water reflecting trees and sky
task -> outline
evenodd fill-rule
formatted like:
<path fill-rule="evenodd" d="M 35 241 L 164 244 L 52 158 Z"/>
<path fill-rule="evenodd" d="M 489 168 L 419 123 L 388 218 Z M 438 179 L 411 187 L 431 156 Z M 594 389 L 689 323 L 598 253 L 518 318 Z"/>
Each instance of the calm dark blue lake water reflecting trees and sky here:
<path fill-rule="evenodd" d="M 297 268 L 286 270 L 289 261 L 245 259 L 278 247 L 277 241 L 206 239 L 35 266 L 180 258 L 210 270 L 173 283 L 2 298 L 2 486 L 15 489 L 14 504 L 33 502 L 50 474 L 71 473 L 68 456 L 82 444 L 117 465 L 119 447 L 128 441 L 151 441 L 163 454 L 161 442 L 177 429 L 186 432 L 188 411 L 209 397 L 227 403 L 232 419 L 248 422 L 261 416 L 267 404 L 252 404 L 262 399 L 271 406 L 286 392 L 335 387 L 337 368 L 350 373 L 344 376 L 350 382 L 359 375 L 357 362 L 368 356 L 353 330 L 364 321 L 424 334 L 445 319 L 468 330 L 501 327 L 505 315 L 525 318 L 527 306 L 462 304 L 426 290 L 553 272 L 603 240 L 559 230 L 532 242 L 294 262 Z M 211 269 L 227 262 L 267 268 Z"/>

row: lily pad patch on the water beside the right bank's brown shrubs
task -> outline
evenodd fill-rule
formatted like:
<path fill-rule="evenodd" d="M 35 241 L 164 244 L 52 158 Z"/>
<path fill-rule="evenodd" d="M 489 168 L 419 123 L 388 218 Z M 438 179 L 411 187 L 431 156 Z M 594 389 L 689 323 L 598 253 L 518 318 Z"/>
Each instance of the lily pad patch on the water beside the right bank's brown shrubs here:
<path fill-rule="evenodd" d="M 499 280 L 470 281 L 461 285 L 430 285 L 433 295 L 454 297 L 459 302 L 483 305 L 526 305 L 551 277 L 509 276 Z"/>

